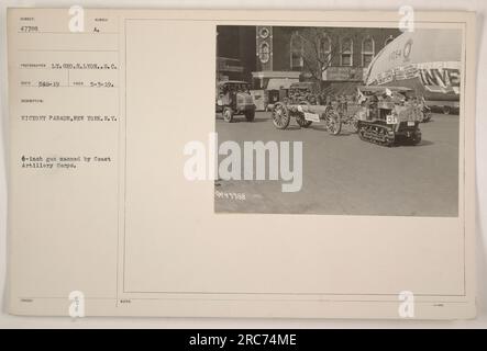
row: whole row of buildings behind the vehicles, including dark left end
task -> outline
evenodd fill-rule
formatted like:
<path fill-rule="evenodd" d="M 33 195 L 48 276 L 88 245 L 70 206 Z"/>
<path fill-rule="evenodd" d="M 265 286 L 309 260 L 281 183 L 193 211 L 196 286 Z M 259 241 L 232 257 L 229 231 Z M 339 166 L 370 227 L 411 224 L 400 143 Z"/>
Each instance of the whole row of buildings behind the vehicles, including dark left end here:
<path fill-rule="evenodd" d="M 400 34 L 398 29 L 218 26 L 217 78 L 252 81 L 264 90 L 313 79 L 323 88 L 357 84 L 375 55 Z"/>

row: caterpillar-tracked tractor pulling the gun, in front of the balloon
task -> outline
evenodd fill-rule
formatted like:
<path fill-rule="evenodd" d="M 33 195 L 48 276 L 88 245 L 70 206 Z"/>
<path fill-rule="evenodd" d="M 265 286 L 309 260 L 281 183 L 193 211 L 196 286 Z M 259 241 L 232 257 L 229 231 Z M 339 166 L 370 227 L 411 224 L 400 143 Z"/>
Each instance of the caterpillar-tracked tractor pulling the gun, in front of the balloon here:
<path fill-rule="evenodd" d="M 384 146 L 421 143 L 422 105 L 413 90 L 403 87 L 358 87 L 357 134 Z"/>

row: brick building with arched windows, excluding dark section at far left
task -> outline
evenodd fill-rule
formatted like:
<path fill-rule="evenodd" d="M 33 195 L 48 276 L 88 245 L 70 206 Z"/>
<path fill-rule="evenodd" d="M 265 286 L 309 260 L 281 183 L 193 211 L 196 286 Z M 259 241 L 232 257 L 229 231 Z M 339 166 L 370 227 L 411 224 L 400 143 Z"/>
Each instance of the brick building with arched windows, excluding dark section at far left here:
<path fill-rule="evenodd" d="M 254 79 L 299 72 L 323 82 L 362 82 L 372 59 L 400 35 L 397 29 L 257 26 Z"/>

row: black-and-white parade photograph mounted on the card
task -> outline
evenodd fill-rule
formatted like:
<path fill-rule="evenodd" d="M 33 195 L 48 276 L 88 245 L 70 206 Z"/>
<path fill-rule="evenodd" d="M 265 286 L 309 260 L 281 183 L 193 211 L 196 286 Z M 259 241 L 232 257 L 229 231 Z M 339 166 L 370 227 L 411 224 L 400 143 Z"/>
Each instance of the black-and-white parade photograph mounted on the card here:
<path fill-rule="evenodd" d="M 456 217 L 462 31 L 218 25 L 217 213 Z"/>

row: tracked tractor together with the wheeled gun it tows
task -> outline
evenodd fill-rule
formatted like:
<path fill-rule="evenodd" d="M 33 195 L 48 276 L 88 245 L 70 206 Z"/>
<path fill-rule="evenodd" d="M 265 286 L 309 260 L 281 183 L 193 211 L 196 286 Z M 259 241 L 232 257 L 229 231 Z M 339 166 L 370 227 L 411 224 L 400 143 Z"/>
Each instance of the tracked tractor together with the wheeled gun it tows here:
<path fill-rule="evenodd" d="M 357 87 L 354 99 L 324 97 L 312 82 L 294 83 L 286 99 L 275 104 L 273 123 L 286 129 L 291 117 L 300 127 L 313 122 L 337 135 L 348 125 L 362 140 L 384 146 L 418 145 L 420 122 L 430 118 L 424 99 L 405 87 Z"/>

